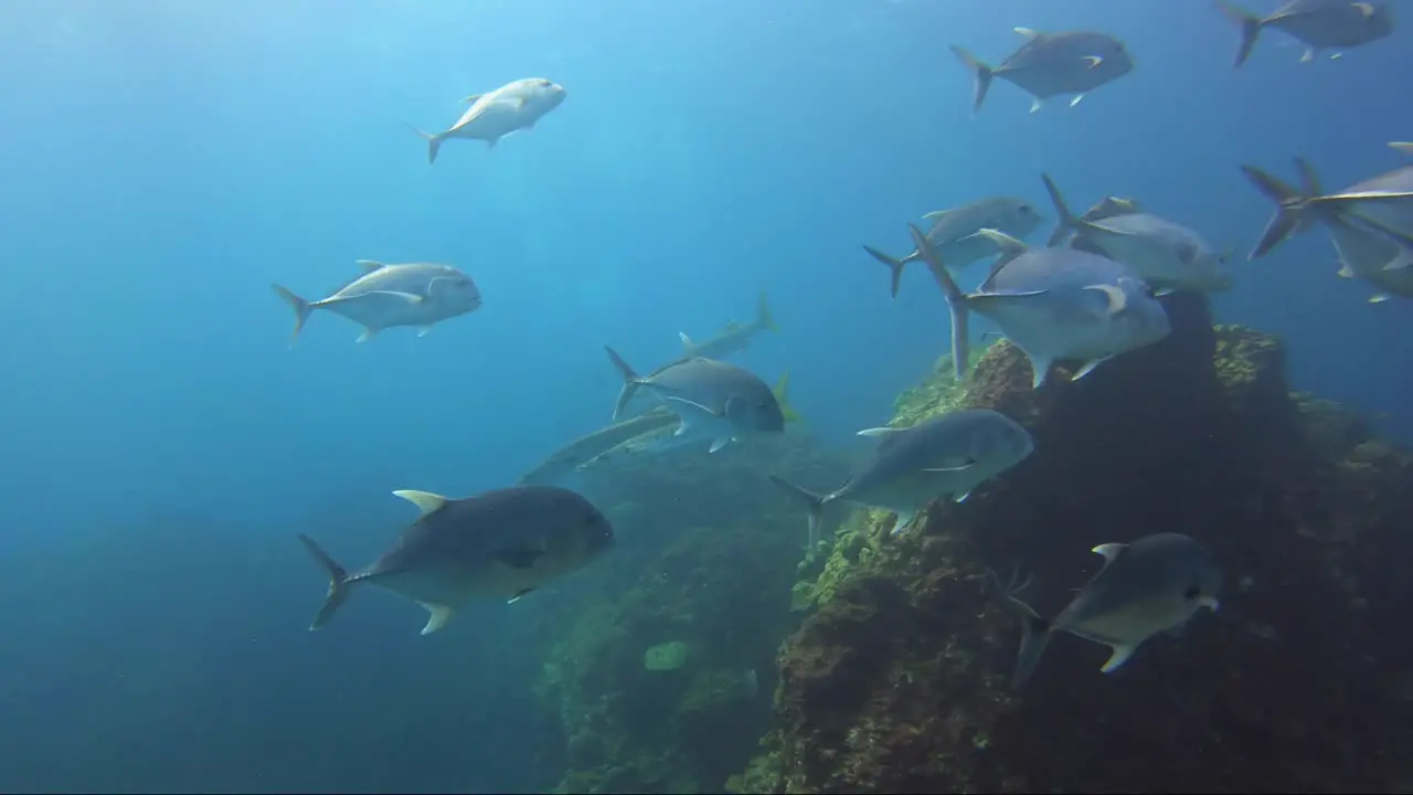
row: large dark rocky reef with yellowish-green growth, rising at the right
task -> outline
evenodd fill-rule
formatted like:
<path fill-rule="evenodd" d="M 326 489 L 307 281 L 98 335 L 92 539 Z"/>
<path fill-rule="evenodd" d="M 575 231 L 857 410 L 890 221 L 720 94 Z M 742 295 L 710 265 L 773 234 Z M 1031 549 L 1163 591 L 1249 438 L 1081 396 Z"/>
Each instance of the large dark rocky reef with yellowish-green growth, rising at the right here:
<path fill-rule="evenodd" d="M 777 655 L 776 724 L 731 789 L 1413 787 L 1413 460 L 1291 393 L 1277 340 L 1214 325 L 1198 296 L 1164 301 L 1169 340 L 1078 382 L 1033 390 L 998 342 L 961 388 L 938 372 L 900 400 L 899 424 L 1005 412 L 1036 453 L 900 538 L 885 512 L 845 521 L 796 587 L 807 613 Z M 1013 692 L 1019 627 L 988 569 L 1033 574 L 1026 597 L 1053 615 L 1098 571 L 1091 547 L 1164 530 L 1212 549 L 1221 610 L 1111 675 L 1106 648 L 1057 637 Z"/>

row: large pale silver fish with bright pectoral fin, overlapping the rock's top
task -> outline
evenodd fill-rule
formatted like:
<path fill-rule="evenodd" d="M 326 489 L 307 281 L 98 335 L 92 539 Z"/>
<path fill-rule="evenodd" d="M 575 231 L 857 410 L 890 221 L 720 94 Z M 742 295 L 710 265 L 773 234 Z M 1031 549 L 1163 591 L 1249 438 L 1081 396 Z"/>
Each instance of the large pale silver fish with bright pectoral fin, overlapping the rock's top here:
<path fill-rule="evenodd" d="M 1005 255 L 976 293 L 962 293 L 917 226 L 909 226 L 942 289 L 952 320 L 952 365 L 966 375 L 971 341 L 968 315 L 989 317 L 1026 354 L 1031 385 L 1044 383 L 1056 359 L 1084 362 L 1081 379 L 1111 358 L 1167 337 L 1163 306 L 1126 265 L 1074 249 L 1030 249 L 995 229 L 982 229 Z"/>

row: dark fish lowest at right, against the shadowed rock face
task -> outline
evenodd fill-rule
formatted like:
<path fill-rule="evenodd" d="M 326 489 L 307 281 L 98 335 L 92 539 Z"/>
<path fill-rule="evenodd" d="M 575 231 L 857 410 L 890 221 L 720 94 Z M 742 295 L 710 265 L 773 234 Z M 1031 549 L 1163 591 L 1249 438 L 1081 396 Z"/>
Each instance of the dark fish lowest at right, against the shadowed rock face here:
<path fill-rule="evenodd" d="M 1019 598 L 1024 584 L 1015 587 L 1015 577 L 1002 586 L 1006 608 L 1022 622 L 1012 687 L 1030 679 L 1056 632 L 1109 646 L 1112 654 L 1101 671 L 1112 673 L 1143 641 L 1180 632 L 1198 610 L 1218 608 L 1221 571 L 1191 536 L 1154 533 L 1133 543 L 1102 543 L 1094 552 L 1104 556 L 1104 569 L 1051 620 Z"/>

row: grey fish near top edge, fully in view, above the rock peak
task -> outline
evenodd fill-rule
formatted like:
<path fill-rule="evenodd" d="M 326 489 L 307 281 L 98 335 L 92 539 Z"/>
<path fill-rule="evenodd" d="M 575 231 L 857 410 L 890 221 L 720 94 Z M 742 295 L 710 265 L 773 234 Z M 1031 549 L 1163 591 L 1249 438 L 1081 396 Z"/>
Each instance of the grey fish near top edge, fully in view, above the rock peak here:
<path fill-rule="evenodd" d="M 1085 93 L 1133 71 L 1133 57 L 1123 41 L 1098 31 L 1037 33 L 1015 28 L 1026 38 L 999 66 L 988 66 L 965 48 L 951 45 L 952 54 L 972 71 L 975 92 L 972 113 L 986 100 L 991 81 L 1010 81 L 1034 98 L 1030 112 L 1040 110 L 1046 99 L 1074 95 L 1078 105 Z"/>

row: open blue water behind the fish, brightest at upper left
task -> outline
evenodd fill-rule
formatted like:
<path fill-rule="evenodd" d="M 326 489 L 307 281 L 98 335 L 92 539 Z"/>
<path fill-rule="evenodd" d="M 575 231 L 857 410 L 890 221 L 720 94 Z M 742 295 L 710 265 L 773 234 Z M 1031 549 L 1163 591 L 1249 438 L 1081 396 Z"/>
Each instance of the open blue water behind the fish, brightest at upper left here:
<path fill-rule="evenodd" d="M 1112 31 L 1136 69 L 1036 115 L 998 82 L 972 119 L 945 45 L 999 62 L 1013 25 Z M 654 366 L 760 290 L 781 332 L 735 361 L 788 369 L 827 440 L 876 426 L 947 318 L 920 267 L 890 301 L 861 243 L 904 253 L 906 221 L 982 195 L 1046 207 L 1046 170 L 1241 260 L 1269 205 L 1238 163 L 1402 164 L 1406 34 L 1297 64 L 1273 33 L 1234 72 L 1201 3 L 11 0 L 0 789 L 551 785 L 510 611 L 421 638 L 414 607 L 360 598 L 309 634 L 324 584 L 292 533 L 372 559 L 407 521 L 390 489 L 512 482 L 606 422 L 602 344 Z M 404 123 L 523 76 L 568 99 L 428 166 Z M 485 307 L 363 345 L 317 313 L 287 351 L 268 284 L 322 296 L 355 259 L 454 263 Z M 1413 439 L 1406 303 L 1368 306 L 1323 235 L 1234 267 L 1219 320 Z"/>

